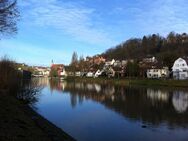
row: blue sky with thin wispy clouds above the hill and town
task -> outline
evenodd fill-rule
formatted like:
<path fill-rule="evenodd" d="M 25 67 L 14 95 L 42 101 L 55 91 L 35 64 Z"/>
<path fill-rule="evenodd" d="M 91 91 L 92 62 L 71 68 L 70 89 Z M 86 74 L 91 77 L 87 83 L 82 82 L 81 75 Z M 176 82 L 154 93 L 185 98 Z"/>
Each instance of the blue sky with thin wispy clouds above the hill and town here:
<path fill-rule="evenodd" d="M 0 56 L 29 65 L 68 64 L 132 37 L 188 32 L 187 0 L 18 0 L 18 34 Z"/>

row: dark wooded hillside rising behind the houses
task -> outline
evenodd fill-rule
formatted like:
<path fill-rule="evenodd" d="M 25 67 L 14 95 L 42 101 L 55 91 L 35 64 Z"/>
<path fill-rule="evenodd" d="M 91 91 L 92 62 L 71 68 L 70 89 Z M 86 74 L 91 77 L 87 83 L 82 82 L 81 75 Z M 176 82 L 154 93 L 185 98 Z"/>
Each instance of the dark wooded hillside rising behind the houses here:
<path fill-rule="evenodd" d="M 174 60 L 188 54 L 188 34 L 171 32 L 167 37 L 153 34 L 140 38 L 131 38 L 102 55 L 107 59 L 141 59 L 156 56 L 164 65 L 171 67 Z"/>

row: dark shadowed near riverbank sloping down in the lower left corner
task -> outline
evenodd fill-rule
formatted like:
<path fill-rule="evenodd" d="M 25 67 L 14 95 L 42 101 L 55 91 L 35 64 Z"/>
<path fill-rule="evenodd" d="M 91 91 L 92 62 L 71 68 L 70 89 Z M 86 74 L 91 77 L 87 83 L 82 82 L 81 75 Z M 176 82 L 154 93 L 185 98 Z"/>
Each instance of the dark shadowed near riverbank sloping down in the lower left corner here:
<path fill-rule="evenodd" d="M 32 108 L 0 91 L 1 141 L 74 141 Z"/>

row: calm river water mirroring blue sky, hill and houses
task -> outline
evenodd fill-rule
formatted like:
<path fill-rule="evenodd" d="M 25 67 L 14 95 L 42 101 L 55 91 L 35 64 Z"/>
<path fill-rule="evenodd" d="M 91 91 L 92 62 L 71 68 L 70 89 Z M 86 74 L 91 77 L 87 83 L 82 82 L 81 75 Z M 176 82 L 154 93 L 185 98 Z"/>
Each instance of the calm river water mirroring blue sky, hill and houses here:
<path fill-rule="evenodd" d="M 39 79 L 32 107 L 78 141 L 187 141 L 188 90 Z"/>

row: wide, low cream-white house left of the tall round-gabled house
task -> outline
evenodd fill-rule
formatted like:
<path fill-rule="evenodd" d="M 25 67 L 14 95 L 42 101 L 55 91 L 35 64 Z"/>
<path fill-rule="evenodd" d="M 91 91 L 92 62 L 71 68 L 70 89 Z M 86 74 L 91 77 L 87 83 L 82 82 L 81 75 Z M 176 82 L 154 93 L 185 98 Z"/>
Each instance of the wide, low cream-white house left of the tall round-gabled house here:
<path fill-rule="evenodd" d="M 168 78 L 169 74 L 168 67 L 151 68 L 147 70 L 147 78 Z"/>

